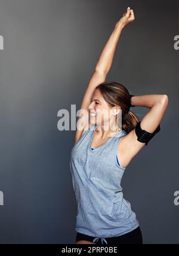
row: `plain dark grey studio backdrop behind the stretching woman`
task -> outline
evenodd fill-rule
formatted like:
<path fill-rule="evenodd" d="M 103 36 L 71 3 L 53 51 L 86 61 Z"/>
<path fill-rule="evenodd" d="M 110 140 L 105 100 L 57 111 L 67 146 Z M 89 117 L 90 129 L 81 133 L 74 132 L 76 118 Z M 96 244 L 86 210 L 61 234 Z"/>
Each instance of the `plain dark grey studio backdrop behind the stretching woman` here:
<path fill-rule="evenodd" d="M 179 243 L 178 1 L 1 0 L 0 243 L 74 243 L 76 201 L 69 168 L 75 130 L 57 112 L 76 104 L 126 7 L 106 81 L 133 95 L 166 94 L 161 132 L 134 157 L 122 179 L 144 243 Z M 134 111 L 134 109 L 132 109 Z M 148 111 L 135 108 L 140 118 Z"/>

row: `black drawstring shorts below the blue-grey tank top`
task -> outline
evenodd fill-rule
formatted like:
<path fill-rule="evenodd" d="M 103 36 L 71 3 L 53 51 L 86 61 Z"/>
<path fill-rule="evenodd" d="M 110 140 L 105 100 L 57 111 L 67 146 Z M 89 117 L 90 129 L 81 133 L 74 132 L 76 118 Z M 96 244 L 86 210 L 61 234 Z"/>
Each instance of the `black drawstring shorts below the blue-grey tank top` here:
<path fill-rule="evenodd" d="M 87 234 L 81 234 L 79 232 L 77 232 L 77 234 L 76 234 L 76 242 L 79 240 L 87 240 L 90 242 L 94 242 L 97 244 L 103 244 L 103 245 L 105 245 L 106 242 L 107 242 L 107 244 L 116 244 L 116 245 L 143 244 L 143 236 L 141 233 L 140 226 L 138 226 L 137 228 L 135 228 L 134 230 L 132 230 L 126 234 L 122 234 L 122 236 L 107 237 L 107 238 L 105 238 L 106 242 L 104 241 L 104 238 L 103 238 L 103 240 L 101 240 L 101 238 L 99 238 L 99 239 L 95 239 L 95 238 L 96 237 L 88 236 Z"/>

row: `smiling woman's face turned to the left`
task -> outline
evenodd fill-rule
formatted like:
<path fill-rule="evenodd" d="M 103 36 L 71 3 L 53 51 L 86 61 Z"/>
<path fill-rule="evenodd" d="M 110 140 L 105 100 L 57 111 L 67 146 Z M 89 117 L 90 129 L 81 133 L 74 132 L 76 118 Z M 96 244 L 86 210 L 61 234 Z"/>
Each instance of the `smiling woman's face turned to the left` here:
<path fill-rule="evenodd" d="M 115 120 L 115 107 L 112 108 L 107 104 L 98 89 L 95 89 L 88 109 L 90 110 L 90 123 L 92 124 L 104 126 L 105 124 L 108 125 L 110 120 Z"/>

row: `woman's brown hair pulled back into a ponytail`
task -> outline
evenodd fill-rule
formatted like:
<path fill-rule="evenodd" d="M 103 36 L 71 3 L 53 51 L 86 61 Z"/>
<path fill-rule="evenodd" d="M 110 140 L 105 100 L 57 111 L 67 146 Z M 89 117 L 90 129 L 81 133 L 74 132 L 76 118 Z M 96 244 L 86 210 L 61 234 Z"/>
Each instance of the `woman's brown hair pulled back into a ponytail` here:
<path fill-rule="evenodd" d="M 130 108 L 130 94 L 128 89 L 117 82 L 104 82 L 99 84 L 96 89 L 100 90 L 101 95 L 109 106 L 121 106 L 122 109 L 122 130 L 131 132 L 138 123 L 138 117 Z"/>

